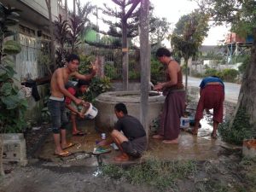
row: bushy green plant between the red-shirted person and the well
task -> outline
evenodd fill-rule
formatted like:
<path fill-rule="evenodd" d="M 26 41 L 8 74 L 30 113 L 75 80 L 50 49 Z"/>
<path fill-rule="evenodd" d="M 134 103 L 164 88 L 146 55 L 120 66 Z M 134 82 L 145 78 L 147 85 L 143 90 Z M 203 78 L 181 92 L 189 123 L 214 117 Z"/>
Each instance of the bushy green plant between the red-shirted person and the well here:
<path fill-rule="evenodd" d="M 88 102 L 95 102 L 96 96 L 99 96 L 101 93 L 110 90 L 111 83 L 108 77 L 94 78 L 90 82 L 89 90 L 84 94 L 84 99 Z"/>

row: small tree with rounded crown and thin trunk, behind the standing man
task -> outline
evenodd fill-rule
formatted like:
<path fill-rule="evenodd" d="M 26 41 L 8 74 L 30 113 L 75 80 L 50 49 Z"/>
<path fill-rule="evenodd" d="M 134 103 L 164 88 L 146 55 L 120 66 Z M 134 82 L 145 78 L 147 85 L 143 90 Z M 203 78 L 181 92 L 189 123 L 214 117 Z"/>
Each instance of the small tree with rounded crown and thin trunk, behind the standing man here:
<path fill-rule="evenodd" d="M 186 68 L 185 90 L 188 90 L 188 61 L 195 56 L 205 37 L 207 37 L 208 15 L 195 10 L 183 15 L 176 24 L 171 36 L 173 51 L 183 57 Z"/>

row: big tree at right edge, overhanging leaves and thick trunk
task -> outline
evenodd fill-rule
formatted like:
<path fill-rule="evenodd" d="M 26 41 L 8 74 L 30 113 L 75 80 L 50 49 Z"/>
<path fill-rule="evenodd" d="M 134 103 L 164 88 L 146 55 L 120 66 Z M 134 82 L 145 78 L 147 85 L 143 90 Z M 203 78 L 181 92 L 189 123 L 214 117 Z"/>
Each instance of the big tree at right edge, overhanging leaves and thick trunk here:
<path fill-rule="evenodd" d="M 243 74 L 236 112 L 231 120 L 232 127 L 240 108 L 250 117 L 250 124 L 256 137 L 256 2 L 255 0 L 197 0 L 201 10 L 211 15 L 216 24 L 228 22 L 231 30 L 241 37 L 253 35 L 251 61 Z"/>

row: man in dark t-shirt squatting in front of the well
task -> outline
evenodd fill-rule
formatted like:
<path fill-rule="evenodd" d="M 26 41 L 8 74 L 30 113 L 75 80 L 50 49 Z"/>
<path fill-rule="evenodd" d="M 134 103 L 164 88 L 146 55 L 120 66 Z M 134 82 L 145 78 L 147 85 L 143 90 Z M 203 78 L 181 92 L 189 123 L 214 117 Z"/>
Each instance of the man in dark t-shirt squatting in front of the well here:
<path fill-rule="evenodd" d="M 128 115 L 124 103 L 117 103 L 114 107 L 114 113 L 118 121 L 111 132 L 112 139 L 108 142 L 103 141 L 99 145 L 116 143 L 121 151 L 121 154 L 114 158 L 117 161 L 126 161 L 130 157 L 141 157 L 148 145 L 143 125 L 138 119 Z"/>

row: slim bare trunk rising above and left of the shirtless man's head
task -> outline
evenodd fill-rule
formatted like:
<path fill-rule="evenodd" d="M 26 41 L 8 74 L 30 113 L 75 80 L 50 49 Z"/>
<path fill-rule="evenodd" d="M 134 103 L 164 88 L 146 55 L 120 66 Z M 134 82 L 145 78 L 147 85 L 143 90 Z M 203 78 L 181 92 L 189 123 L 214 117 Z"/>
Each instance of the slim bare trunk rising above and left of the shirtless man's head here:
<path fill-rule="evenodd" d="M 49 14 L 49 33 L 50 33 L 50 59 L 53 63 L 54 69 L 56 69 L 56 63 L 55 63 L 55 36 L 54 36 L 54 27 L 52 24 L 52 16 L 51 16 L 51 4 L 50 0 L 45 0 L 45 3 L 47 5 L 48 14 Z"/>

